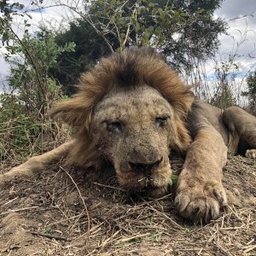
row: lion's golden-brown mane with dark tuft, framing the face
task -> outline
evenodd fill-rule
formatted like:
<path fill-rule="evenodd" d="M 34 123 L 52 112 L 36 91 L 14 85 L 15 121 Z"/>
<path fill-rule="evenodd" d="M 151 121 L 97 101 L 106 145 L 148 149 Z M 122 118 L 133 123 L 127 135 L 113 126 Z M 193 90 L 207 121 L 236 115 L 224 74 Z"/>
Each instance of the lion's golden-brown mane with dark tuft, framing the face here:
<path fill-rule="evenodd" d="M 97 102 L 110 91 L 129 90 L 131 86 L 148 84 L 166 98 L 172 105 L 177 125 L 176 150 L 183 152 L 189 147 L 189 132 L 184 119 L 189 113 L 194 95 L 189 86 L 183 84 L 154 49 L 131 48 L 102 58 L 89 72 L 83 73 L 78 85 L 78 93 L 67 102 L 56 105 L 53 115 L 73 129 L 76 139 L 70 148 L 69 160 L 79 166 L 100 168 L 102 156 L 97 151 L 96 142 L 91 136 L 91 117 Z"/>

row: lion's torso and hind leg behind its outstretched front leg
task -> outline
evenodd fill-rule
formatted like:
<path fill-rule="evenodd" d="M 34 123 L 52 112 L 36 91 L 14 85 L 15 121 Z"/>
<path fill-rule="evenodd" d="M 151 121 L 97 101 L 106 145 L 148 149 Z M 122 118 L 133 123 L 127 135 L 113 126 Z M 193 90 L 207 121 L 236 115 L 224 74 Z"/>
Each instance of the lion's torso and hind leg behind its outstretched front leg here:
<path fill-rule="evenodd" d="M 238 107 L 221 110 L 201 100 L 195 100 L 194 105 L 189 113 L 190 134 L 193 135 L 193 127 L 201 119 L 218 131 L 230 153 L 244 155 L 248 149 L 256 148 L 256 119 L 253 115 Z"/>

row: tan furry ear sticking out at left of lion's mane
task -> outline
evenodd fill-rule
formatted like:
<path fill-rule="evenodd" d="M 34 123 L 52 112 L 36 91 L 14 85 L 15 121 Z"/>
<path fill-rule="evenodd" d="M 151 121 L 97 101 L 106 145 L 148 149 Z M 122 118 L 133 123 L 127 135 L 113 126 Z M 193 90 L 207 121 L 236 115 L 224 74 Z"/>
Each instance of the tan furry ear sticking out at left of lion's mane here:
<path fill-rule="evenodd" d="M 59 116 L 67 125 L 84 126 L 88 123 L 91 114 L 91 105 L 88 103 L 84 103 L 79 97 L 74 97 L 67 102 L 57 103 L 50 116 Z"/>

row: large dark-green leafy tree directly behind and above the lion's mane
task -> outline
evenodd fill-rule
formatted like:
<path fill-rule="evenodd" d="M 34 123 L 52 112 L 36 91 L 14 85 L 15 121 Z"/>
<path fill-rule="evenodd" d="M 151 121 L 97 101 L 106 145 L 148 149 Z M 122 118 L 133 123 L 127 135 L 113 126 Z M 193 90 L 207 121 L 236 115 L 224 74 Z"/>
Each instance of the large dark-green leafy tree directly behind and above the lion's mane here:
<path fill-rule="evenodd" d="M 218 34 L 225 32 L 226 23 L 214 19 L 213 11 L 221 2 L 91 1 L 86 11 L 79 13 L 79 20 L 56 36 L 59 45 L 73 41 L 79 46 L 74 53 L 60 55 L 58 67 L 51 72 L 65 87 L 76 84 L 79 73 L 94 65 L 101 55 L 131 45 L 158 48 L 173 67 L 189 72 L 191 59 L 205 60 L 218 48 Z M 67 92 L 73 90 L 68 87 Z"/>

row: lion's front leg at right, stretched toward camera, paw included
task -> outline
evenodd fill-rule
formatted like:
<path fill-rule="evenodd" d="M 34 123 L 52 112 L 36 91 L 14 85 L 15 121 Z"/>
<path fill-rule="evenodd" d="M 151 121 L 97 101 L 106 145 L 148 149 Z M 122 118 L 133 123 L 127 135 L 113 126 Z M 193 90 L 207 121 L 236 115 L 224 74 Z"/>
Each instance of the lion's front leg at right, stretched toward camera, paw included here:
<path fill-rule="evenodd" d="M 175 203 L 184 218 L 205 222 L 218 218 L 219 208 L 227 204 L 222 184 L 226 159 L 227 148 L 218 131 L 201 128 L 177 180 Z"/>

